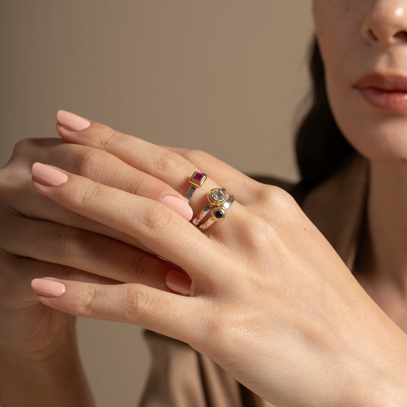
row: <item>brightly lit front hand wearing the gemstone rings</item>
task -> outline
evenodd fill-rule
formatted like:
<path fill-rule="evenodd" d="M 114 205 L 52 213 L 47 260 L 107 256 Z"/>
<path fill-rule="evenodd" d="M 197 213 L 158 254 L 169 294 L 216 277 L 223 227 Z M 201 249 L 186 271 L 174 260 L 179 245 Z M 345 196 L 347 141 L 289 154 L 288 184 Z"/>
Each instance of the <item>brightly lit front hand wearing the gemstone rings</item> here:
<path fill-rule="evenodd" d="M 59 133 L 106 150 L 181 193 L 193 171 L 207 173 L 191 200 L 195 215 L 212 188 L 226 188 L 236 202 L 202 233 L 154 200 L 54 167 L 45 171 L 60 185 L 49 186 L 34 167 L 39 193 L 136 238 L 192 280 L 180 272 L 167 275 L 170 287 L 190 290 L 185 297 L 142 284 L 36 279 L 41 302 L 187 342 L 275 405 L 403 405 L 405 334 L 288 193 L 208 154 L 163 149 L 99 124 Z"/>

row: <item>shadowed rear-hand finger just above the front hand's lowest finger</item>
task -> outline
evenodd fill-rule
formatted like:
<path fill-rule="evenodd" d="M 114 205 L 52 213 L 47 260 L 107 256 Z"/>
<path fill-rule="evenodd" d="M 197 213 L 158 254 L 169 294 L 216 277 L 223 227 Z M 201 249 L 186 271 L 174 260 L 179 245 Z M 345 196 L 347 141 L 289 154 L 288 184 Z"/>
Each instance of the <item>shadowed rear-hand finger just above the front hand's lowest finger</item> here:
<path fill-rule="evenodd" d="M 23 232 L 21 232 L 23 231 Z M 18 256 L 168 290 L 166 274 L 176 267 L 133 246 L 82 229 L 17 217 L 6 230 L 4 250 Z"/>

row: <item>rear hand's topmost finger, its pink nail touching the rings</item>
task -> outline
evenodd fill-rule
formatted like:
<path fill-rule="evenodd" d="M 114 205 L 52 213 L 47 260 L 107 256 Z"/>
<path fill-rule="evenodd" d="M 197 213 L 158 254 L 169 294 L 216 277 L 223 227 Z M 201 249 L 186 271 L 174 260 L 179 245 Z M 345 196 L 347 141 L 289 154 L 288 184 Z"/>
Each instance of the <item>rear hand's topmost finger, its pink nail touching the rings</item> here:
<path fill-rule="evenodd" d="M 24 172 L 31 178 L 31 166 L 35 161 L 44 160 L 69 172 L 77 173 L 96 182 L 114 186 L 136 195 L 162 202 L 187 220 L 192 209 L 180 192 L 165 182 L 142 172 L 106 151 L 67 143 L 58 139 L 27 139 L 17 144 L 14 156 L 21 157 Z M 29 167 L 28 167 L 29 165 Z M 21 169 L 19 169 L 21 171 Z M 21 174 L 23 176 L 23 173 Z M 20 203 L 21 212 L 31 202 Z"/>

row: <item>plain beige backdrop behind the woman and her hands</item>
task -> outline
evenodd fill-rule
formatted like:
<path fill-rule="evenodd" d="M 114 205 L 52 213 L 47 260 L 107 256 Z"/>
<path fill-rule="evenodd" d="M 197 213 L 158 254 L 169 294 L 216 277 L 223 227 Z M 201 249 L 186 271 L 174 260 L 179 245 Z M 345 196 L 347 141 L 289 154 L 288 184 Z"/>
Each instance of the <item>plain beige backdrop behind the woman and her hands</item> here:
<path fill-rule="evenodd" d="M 245 172 L 296 179 L 311 0 L 3 0 L 0 164 L 55 137 L 66 109 Z M 133 406 L 149 356 L 134 326 L 79 321 L 100 407 Z"/>

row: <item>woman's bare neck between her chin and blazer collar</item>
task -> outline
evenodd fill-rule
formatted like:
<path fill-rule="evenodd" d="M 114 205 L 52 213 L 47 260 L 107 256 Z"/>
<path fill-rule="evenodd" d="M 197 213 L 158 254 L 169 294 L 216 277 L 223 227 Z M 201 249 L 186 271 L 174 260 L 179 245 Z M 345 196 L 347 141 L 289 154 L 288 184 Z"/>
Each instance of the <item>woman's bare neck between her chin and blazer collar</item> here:
<path fill-rule="evenodd" d="M 361 241 L 369 279 L 407 293 L 407 166 L 371 162 Z"/>

